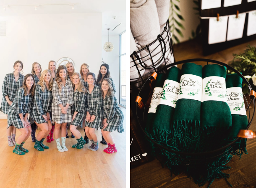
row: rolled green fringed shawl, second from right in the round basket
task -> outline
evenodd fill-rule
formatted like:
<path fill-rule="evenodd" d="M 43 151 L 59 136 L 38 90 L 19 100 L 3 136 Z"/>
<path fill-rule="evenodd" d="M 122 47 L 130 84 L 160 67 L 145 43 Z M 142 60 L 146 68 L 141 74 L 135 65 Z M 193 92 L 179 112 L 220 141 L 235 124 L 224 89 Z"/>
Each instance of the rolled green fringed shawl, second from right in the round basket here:
<path fill-rule="evenodd" d="M 226 101 L 225 93 L 220 94 L 218 92 L 218 87 L 226 87 L 226 70 L 225 66 L 220 66 L 217 64 L 205 65 L 203 68 L 203 79 L 209 79 L 209 76 L 217 76 L 224 78 L 224 83 L 222 78 L 209 79 L 203 85 L 203 100 L 204 95 L 213 100 L 207 100 L 202 102 L 201 108 L 201 125 L 204 132 L 207 132 L 205 137 L 205 150 L 213 150 L 221 147 L 219 142 L 223 139 L 223 132 L 227 131 L 232 124 L 232 117 L 230 108 L 227 102 L 218 101 L 214 97 L 220 98 Z M 209 147 L 208 147 L 209 146 Z"/>

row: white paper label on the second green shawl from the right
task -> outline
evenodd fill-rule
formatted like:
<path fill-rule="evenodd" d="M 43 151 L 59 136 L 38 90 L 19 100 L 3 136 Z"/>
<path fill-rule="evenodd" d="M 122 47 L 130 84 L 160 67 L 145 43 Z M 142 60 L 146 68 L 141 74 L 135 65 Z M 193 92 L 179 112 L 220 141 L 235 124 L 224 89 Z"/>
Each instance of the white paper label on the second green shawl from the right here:
<path fill-rule="evenodd" d="M 204 101 L 227 102 L 225 78 L 209 76 L 203 79 L 203 102 Z"/>

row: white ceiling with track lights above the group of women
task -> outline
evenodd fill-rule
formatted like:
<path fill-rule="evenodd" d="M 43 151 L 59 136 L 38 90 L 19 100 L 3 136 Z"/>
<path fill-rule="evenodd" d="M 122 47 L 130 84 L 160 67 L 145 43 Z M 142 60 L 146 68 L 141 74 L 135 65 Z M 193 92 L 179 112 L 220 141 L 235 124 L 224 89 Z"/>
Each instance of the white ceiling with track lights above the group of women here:
<path fill-rule="evenodd" d="M 3 5 L 8 5 L 5 11 L 3 10 Z M 35 10 L 34 5 L 39 5 L 39 7 L 37 7 L 37 10 Z M 71 5 L 74 5 L 73 10 Z M 120 33 L 123 33 L 123 31 L 126 30 L 125 6 L 125 0 L 0 0 L 0 16 L 101 12 L 102 35 L 108 34 L 107 28 L 110 28 L 110 35 L 119 35 Z M 114 19 L 115 16 L 116 18 Z M 115 28 L 119 23 L 122 24 Z M 112 31 L 112 29 L 114 30 Z"/>

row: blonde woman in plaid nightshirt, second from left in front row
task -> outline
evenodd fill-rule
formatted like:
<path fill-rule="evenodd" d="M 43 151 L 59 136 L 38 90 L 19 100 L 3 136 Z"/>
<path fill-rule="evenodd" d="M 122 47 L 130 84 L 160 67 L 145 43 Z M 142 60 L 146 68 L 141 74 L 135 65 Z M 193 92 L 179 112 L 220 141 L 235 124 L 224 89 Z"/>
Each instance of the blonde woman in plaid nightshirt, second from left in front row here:
<path fill-rule="evenodd" d="M 44 70 L 35 89 L 34 102 L 30 113 L 30 123 L 35 122 L 41 129 L 37 134 L 36 143 L 34 145 L 34 148 L 38 151 L 49 149 L 48 146 L 43 144 L 43 141 L 52 129 L 52 122 L 50 118 L 52 106 L 52 84 L 53 79 L 51 71 L 49 69 Z"/>

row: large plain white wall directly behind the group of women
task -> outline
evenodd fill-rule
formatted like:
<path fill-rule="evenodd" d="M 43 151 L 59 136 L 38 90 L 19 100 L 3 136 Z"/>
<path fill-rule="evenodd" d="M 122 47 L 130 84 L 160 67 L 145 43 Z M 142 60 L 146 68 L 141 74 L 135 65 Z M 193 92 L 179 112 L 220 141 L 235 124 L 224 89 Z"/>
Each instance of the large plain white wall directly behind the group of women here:
<path fill-rule="evenodd" d="M 27 15 L 0 20 L 7 21 L 7 36 L 0 37 L 0 103 L 4 76 L 13 71 L 17 60 L 24 64 L 24 75 L 31 73 L 33 62 L 40 63 L 44 70 L 50 60 L 69 57 L 76 71 L 87 63 L 97 76 L 103 48 L 102 13 Z M 0 118 L 5 117 L 1 112 Z"/>

